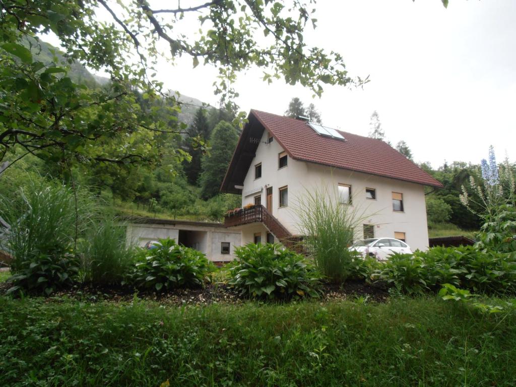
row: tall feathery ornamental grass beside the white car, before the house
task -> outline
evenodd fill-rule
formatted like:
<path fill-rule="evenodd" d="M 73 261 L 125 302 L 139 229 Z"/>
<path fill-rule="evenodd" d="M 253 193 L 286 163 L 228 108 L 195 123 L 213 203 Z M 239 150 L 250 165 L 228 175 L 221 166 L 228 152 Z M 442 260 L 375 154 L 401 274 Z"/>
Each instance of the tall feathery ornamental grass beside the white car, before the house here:
<path fill-rule="evenodd" d="M 299 217 L 298 232 L 316 267 L 332 282 L 344 282 L 358 259 L 349 246 L 366 218 L 364 212 L 339 203 L 337 192 L 326 187 L 305 191 L 297 198 L 294 211 Z"/>

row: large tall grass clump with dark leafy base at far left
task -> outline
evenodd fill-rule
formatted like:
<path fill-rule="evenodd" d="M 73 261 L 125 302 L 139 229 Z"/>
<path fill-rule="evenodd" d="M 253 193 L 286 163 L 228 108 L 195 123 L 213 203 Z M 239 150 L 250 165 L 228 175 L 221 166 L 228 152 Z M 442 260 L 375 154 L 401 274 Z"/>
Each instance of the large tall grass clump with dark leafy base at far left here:
<path fill-rule="evenodd" d="M 11 225 L 4 242 L 12 255 L 11 292 L 51 294 L 77 275 L 74 236 L 83 230 L 83 204 L 76 211 L 70 188 L 47 184 L 20 189 L 17 200 L 0 199 L 0 215 Z"/>

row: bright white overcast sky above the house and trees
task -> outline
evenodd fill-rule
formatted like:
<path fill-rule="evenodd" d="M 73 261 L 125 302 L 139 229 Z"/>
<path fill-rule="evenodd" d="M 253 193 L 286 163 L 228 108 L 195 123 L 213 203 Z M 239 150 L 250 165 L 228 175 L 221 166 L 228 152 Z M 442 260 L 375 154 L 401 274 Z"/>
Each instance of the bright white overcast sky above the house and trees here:
<path fill-rule="evenodd" d="M 516 161 L 516 1 L 324 1 L 306 41 L 340 52 L 363 89 L 327 87 L 322 98 L 301 86 L 262 82 L 242 74 L 236 101 L 245 111 L 283 114 L 298 96 L 313 102 L 324 124 L 367 135 L 378 111 L 386 138 L 405 140 L 416 162 L 479 163 L 492 144 L 497 159 Z M 181 93 L 217 105 L 215 69 L 192 69 L 191 59 L 159 64 L 158 78 Z"/>

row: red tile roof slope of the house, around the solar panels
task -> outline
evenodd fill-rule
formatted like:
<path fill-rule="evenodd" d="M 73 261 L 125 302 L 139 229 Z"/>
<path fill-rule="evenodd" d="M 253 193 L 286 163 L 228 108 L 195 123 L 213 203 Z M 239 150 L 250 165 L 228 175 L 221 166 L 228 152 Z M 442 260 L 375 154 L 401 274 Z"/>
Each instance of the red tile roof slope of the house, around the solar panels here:
<path fill-rule="evenodd" d="M 308 122 L 252 109 L 253 115 L 297 160 L 442 187 L 442 184 L 393 149 L 374 138 L 339 131 L 345 141 L 317 134 Z"/>

